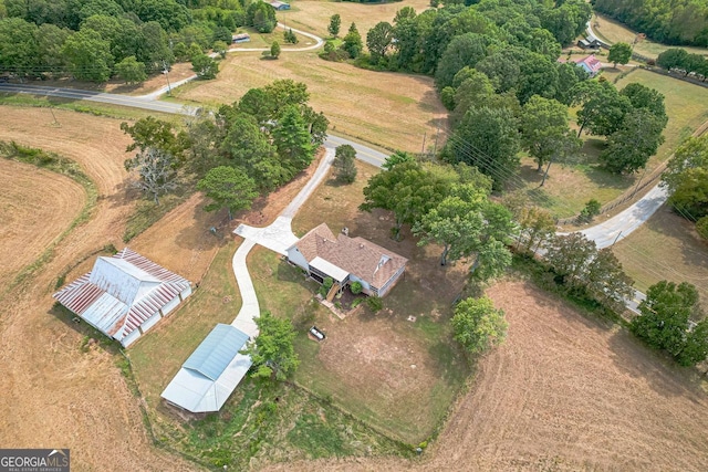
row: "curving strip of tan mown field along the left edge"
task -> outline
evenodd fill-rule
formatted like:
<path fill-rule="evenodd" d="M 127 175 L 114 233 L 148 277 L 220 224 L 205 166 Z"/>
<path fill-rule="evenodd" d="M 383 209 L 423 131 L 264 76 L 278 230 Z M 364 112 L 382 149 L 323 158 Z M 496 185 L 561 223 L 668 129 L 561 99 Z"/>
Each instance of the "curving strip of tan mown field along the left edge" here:
<path fill-rule="evenodd" d="M 71 448 L 75 470 L 190 470 L 154 449 L 138 400 L 113 357 L 82 353 L 81 336 L 49 314 L 56 274 L 110 242 L 121 245 L 132 204 L 125 199 L 118 120 L 55 111 L 61 127 L 42 108 L 2 107 L 0 139 L 56 151 L 80 162 L 96 182 L 93 219 L 77 228 L 55 258 L 0 307 L 0 438 L 3 447 Z M 35 187 L 38 193 L 41 188 Z M 32 198 L 32 196 L 29 196 Z M 61 208 L 56 208 L 61 210 Z"/>

